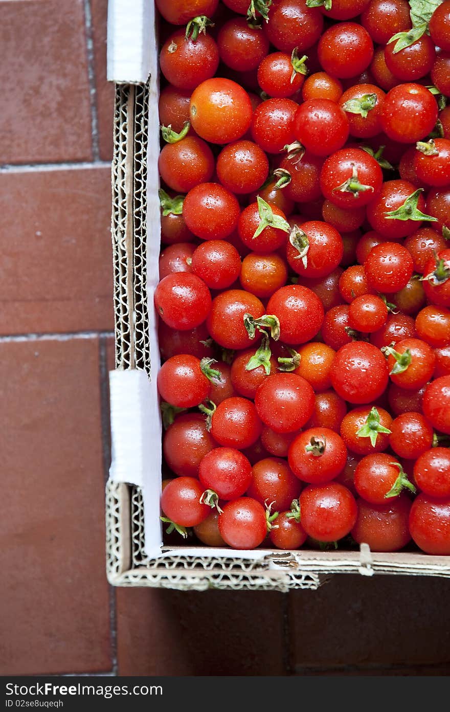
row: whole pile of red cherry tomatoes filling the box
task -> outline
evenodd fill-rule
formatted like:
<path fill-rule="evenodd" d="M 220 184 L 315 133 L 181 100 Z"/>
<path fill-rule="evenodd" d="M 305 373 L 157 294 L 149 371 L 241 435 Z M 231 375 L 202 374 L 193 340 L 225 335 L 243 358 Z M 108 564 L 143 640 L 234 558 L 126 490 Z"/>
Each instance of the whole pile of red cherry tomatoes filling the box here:
<path fill-rule="evenodd" d="M 450 1 L 156 5 L 167 535 L 450 555 Z"/>

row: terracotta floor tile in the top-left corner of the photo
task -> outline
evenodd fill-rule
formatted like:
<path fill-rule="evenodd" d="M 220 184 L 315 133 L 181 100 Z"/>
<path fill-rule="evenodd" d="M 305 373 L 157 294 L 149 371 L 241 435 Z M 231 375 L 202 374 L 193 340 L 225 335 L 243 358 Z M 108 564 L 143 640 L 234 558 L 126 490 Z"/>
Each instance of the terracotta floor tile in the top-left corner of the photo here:
<path fill-rule="evenodd" d="M 83 0 L 0 2 L 0 164 L 92 157 Z"/>

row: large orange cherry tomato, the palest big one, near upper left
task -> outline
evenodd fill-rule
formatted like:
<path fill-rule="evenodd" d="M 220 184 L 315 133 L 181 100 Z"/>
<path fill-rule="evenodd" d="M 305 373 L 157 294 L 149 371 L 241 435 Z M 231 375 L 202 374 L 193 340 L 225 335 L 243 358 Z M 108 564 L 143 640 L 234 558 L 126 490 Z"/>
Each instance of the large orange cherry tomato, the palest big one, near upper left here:
<path fill-rule="evenodd" d="M 248 93 L 231 79 L 214 77 L 194 89 L 189 106 L 192 127 L 205 141 L 229 143 L 244 136 L 253 110 Z"/>

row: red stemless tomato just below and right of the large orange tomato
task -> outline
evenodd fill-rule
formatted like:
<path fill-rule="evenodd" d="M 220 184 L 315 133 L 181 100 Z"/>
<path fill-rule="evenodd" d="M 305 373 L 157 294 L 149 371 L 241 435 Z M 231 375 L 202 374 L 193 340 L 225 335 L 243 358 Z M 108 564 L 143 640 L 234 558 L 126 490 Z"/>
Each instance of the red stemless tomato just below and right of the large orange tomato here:
<path fill-rule="evenodd" d="M 252 141 L 226 145 L 217 157 L 217 176 L 222 185 L 236 194 L 257 190 L 268 176 L 268 159 Z"/>

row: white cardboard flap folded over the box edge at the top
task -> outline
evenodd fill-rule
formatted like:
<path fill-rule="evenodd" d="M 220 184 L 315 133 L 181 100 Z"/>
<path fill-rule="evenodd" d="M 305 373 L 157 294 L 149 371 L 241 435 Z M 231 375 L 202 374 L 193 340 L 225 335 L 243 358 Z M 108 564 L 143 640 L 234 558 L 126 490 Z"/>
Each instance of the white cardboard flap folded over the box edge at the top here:
<path fill-rule="evenodd" d="M 107 71 L 117 84 L 144 84 L 152 65 L 155 37 L 153 0 L 108 0 Z"/>

